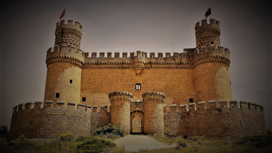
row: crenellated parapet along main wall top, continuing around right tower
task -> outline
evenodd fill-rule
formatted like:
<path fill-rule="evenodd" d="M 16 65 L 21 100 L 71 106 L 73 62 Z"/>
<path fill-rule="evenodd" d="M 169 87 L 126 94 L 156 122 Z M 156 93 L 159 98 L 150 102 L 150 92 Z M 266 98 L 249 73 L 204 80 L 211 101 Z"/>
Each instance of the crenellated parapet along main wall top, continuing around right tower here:
<path fill-rule="evenodd" d="M 192 69 L 197 65 L 204 63 L 224 63 L 227 66 L 230 64 L 229 50 L 223 46 L 210 45 L 198 48 L 184 49 L 186 52 L 174 52 L 171 55 L 170 52 L 158 53 L 155 56 L 154 52 L 150 52 L 150 56 L 147 56 L 147 52 L 137 51 L 131 52 L 130 57 L 127 57 L 127 52 L 123 52 L 123 57 L 120 57 L 119 52 L 115 52 L 115 56 L 111 57 L 111 52 L 108 52 L 108 57 L 105 57 L 104 52 L 100 52 L 100 57 L 96 57 L 97 53 L 92 52 L 92 56 L 89 57 L 88 52 L 84 52 L 84 64 L 82 68 L 85 69 L 134 69 L 136 75 L 140 75 L 144 69 L 150 68 L 166 68 L 166 69 Z M 118 54 L 117 54 L 118 53 Z"/>

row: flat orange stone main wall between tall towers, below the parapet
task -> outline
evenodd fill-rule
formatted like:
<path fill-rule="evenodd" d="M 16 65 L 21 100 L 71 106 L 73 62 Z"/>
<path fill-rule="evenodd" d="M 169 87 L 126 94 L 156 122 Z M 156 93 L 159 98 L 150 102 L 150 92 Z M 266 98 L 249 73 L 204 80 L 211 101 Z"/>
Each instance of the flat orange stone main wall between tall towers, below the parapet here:
<path fill-rule="evenodd" d="M 135 83 L 141 83 L 141 90 L 135 90 Z M 110 105 L 108 94 L 113 91 L 133 93 L 132 101 L 142 101 L 144 92 L 165 93 L 165 104 L 189 103 L 195 97 L 193 69 L 145 69 L 137 77 L 131 69 L 82 69 L 80 97 L 86 97 L 87 105 Z M 81 98 L 82 99 L 82 98 Z"/>

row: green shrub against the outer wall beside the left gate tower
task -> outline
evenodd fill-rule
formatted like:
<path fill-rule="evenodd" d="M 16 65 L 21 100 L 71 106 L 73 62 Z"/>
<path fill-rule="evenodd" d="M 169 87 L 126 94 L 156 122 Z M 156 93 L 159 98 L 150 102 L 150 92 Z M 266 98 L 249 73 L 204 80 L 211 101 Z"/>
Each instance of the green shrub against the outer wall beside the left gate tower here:
<path fill-rule="evenodd" d="M 109 133 L 119 135 L 119 136 L 124 136 L 124 131 L 121 130 L 120 126 L 114 126 L 111 124 L 108 124 L 106 126 L 95 129 L 93 132 L 93 135 L 94 136 L 103 136 L 103 135 L 107 135 Z"/>

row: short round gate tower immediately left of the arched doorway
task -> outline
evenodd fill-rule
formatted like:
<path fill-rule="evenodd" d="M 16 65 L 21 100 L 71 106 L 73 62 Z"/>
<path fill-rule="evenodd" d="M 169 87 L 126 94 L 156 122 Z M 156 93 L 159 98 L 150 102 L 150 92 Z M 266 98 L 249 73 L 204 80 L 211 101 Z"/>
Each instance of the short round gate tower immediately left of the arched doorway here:
<path fill-rule="evenodd" d="M 111 102 L 111 124 L 120 126 L 126 134 L 130 132 L 130 102 L 132 93 L 116 91 L 109 93 Z"/>

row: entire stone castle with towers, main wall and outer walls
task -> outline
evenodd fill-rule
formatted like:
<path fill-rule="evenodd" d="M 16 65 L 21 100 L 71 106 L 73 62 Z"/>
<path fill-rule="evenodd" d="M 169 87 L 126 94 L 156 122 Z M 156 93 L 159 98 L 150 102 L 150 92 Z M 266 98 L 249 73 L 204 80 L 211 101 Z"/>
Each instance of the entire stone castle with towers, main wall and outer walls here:
<path fill-rule="evenodd" d="M 61 20 L 47 50 L 44 102 L 13 108 L 8 140 L 87 136 L 111 123 L 126 134 L 240 138 L 267 134 L 262 106 L 232 100 L 230 52 L 220 45 L 220 22 L 195 25 L 196 48 L 178 53 L 80 50 L 82 25 Z"/>

